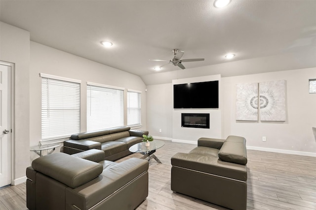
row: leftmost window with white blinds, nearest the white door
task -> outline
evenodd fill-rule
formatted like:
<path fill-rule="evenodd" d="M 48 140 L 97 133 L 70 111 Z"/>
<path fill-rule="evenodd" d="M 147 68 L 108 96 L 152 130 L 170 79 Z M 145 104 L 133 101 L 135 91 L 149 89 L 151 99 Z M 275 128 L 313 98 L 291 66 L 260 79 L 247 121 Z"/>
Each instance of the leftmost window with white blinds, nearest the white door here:
<path fill-rule="evenodd" d="M 80 82 L 40 74 L 41 139 L 68 137 L 80 132 Z"/>

